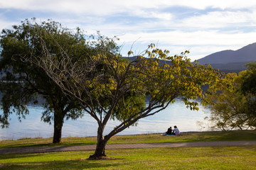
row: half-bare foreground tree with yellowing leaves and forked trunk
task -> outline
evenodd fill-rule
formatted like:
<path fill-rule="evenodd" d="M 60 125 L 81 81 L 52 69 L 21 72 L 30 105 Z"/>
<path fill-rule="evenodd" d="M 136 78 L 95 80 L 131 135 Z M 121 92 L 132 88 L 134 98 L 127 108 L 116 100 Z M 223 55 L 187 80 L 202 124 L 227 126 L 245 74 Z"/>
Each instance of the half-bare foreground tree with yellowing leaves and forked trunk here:
<path fill-rule="evenodd" d="M 224 83 L 215 69 L 191 63 L 186 57 L 187 51 L 170 57 L 168 50 L 149 45 L 143 55 L 131 62 L 122 62 L 122 57 L 105 49 L 90 56 L 87 62 L 82 58 L 73 61 L 68 54 L 59 61 L 55 60 L 43 39 L 41 45 L 44 46 L 41 57 L 31 52 L 24 60 L 44 69 L 65 94 L 78 101 L 83 110 L 96 120 L 97 147 L 90 159 L 105 157 L 105 146 L 113 135 L 141 118 L 164 110 L 178 96 L 182 96 L 188 108 L 198 110 L 198 103 L 189 100 L 198 96 L 203 98 L 201 86 L 209 84 L 217 88 Z M 64 53 L 63 49 L 60 50 Z M 128 55 L 131 54 L 129 52 Z M 166 63 L 159 65 L 160 60 Z M 168 61 L 171 64 L 167 64 Z M 127 103 L 127 96 L 134 98 L 132 102 Z M 138 107 L 138 96 L 149 97 L 149 103 Z M 121 123 L 104 136 L 110 118 L 117 118 Z"/>

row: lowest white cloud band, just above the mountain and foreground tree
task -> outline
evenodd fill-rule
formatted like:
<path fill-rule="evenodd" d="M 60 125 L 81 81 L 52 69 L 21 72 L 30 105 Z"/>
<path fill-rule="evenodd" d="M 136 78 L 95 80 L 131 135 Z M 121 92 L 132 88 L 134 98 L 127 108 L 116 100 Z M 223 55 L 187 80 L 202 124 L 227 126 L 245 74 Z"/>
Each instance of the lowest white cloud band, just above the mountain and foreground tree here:
<path fill-rule="evenodd" d="M 189 55 L 193 60 L 205 57 L 220 50 L 237 50 L 240 47 L 255 42 L 255 33 L 218 33 L 217 31 L 195 31 L 191 33 L 181 31 L 169 31 L 160 33 L 136 33 L 120 36 L 120 42 L 129 45 L 135 42 L 136 51 L 146 49 L 149 43 L 159 43 L 159 48 L 170 50 L 171 54 L 179 54 L 184 50 L 190 50 Z M 139 39 L 138 39 L 139 38 Z M 140 49 L 140 50 L 139 50 Z M 126 52 L 124 52 L 125 54 Z"/>

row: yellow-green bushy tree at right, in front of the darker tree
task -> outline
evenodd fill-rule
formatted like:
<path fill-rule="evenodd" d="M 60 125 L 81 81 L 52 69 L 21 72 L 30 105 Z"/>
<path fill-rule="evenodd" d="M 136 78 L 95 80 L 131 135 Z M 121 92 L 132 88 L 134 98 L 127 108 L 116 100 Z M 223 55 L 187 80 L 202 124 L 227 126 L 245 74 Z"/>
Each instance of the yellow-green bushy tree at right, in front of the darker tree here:
<path fill-rule="evenodd" d="M 229 91 L 225 87 L 221 91 L 208 89 L 210 95 L 207 96 L 210 105 L 210 121 L 214 123 L 216 129 L 233 130 L 249 129 L 256 127 L 256 117 L 252 115 L 252 96 L 244 95 L 240 91 L 242 75 L 244 72 L 229 74 L 233 81 L 233 90 Z M 225 85 L 224 85 L 225 86 Z"/>

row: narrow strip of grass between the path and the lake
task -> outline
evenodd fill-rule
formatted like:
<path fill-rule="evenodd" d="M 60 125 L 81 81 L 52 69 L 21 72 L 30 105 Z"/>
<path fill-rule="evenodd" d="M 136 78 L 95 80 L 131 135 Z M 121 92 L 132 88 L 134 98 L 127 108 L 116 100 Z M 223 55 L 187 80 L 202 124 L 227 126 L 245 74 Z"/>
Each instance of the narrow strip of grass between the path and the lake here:
<path fill-rule="evenodd" d="M 107 144 L 124 143 L 152 143 L 152 142 L 210 142 L 210 141 L 238 141 L 256 140 L 256 130 L 238 130 L 227 132 L 191 132 L 180 136 L 163 136 L 160 134 L 149 135 L 124 135 L 114 136 Z M 95 145 L 96 137 L 65 137 L 57 145 L 52 144 L 52 138 L 25 138 L 21 140 L 2 140 L 0 148 L 8 147 L 43 147 L 43 146 L 68 146 L 68 145 Z"/>

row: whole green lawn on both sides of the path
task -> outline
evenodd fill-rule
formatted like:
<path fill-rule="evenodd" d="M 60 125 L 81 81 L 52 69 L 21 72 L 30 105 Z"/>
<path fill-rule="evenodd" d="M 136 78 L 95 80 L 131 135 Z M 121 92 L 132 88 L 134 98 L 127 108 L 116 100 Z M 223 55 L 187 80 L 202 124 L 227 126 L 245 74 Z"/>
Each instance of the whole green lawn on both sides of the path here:
<path fill-rule="evenodd" d="M 109 144 L 256 140 L 256 130 L 114 136 Z M 52 139 L 0 141 L 1 148 L 56 146 Z M 67 137 L 58 145 L 92 145 L 96 137 Z M 111 160 L 87 160 L 93 151 L 0 154 L 0 169 L 255 169 L 256 145 L 107 149 Z"/>

